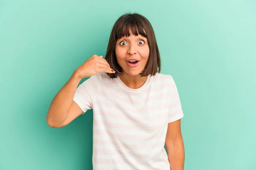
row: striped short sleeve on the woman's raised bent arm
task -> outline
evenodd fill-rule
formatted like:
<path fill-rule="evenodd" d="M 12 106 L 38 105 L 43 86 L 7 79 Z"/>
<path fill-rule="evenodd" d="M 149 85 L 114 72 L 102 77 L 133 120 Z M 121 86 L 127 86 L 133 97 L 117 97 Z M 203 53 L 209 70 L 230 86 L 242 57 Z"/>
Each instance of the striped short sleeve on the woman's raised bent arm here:
<path fill-rule="evenodd" d="M 100 74 L 95 74 L 82 82 L 76 89 L 73 101 L 81 108 L 85 113 L 87 110 L 93 109 L 93 98 L 97 90 L 99 89 L 101 76 Z M 83 113 L 83 114 L 84 114 Z"/>

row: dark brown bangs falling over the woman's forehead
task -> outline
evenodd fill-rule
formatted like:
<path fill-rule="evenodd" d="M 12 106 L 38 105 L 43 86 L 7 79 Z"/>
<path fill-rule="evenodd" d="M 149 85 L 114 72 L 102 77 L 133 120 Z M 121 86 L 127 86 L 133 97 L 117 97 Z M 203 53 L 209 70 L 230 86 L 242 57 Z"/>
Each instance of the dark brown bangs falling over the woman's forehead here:
<path fill-rule="evenodd" d="M 145 33 L 145 29 L 143 27 L 143 24 L 141 22 L 138 22 L 134 17 L 126 17 L 123 18 L 117 25 L 117 29 L 114 31 L 114 38 L 115 41 L 122 37 L 129 37 L 130 31 L 135 36 L 138 36 L 139 34 L 145 38 L 148 38 L 148 36 Z"/>

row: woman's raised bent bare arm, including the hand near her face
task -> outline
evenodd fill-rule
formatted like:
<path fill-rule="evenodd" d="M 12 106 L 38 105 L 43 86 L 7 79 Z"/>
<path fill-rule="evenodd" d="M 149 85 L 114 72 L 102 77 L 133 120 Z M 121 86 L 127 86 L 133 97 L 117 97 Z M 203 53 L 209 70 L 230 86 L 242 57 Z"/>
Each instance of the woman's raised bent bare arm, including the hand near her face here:
<path fill-rule="evenodd" d="M 115 73 L 102 56 L 93 55 L 77 68 L 67 83 L 53 98 L 46 120 L 50 127 L 63 127 L 84 113 L 73 101 L 76 88 L 82 78 L 91 77 L 99 72 Z"/>

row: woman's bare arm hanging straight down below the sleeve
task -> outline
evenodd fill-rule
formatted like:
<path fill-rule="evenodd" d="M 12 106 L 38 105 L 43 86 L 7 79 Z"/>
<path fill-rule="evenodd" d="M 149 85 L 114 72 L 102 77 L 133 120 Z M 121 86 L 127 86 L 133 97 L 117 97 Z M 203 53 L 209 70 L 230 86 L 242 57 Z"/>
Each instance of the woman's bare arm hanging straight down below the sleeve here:
<path fill-rule="evenodd" d="M 165 145 L 171 170 L 183 170 L 185 152 L 180 130 L 180 119 L 168 124 Z"/>

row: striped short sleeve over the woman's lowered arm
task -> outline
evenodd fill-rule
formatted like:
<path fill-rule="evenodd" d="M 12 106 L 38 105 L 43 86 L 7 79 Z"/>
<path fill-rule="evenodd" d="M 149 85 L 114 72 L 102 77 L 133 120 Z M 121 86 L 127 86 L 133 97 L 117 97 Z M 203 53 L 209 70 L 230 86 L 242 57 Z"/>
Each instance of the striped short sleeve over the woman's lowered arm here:
<path fill-rule="evenodd" d="M 180 103 L 180 96 L 178 94 L 177 86 L 173 78 L 171 78 L 170 88 L 170 105 L 169 105 L 169 119 L 168 122 L 174 122 L 183 118 L 183 110 Z"/>

